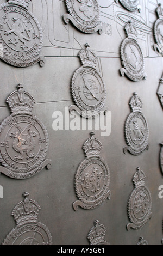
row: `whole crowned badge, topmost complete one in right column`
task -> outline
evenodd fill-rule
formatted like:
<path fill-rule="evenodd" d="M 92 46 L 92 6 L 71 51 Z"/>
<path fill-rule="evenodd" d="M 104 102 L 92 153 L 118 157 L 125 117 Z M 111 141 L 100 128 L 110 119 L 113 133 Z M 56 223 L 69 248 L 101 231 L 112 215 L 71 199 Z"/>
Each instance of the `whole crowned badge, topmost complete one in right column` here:
<path fill-rule="evenodd" d="M 122 68 L 121 75 L 132 81 L 146 79 L 145 61 L 140 46 L 137 44 L 137 31 L 134 22 L 129 21 L 124 27 L 127 38 L 123 40 L 120 48 Z"/>

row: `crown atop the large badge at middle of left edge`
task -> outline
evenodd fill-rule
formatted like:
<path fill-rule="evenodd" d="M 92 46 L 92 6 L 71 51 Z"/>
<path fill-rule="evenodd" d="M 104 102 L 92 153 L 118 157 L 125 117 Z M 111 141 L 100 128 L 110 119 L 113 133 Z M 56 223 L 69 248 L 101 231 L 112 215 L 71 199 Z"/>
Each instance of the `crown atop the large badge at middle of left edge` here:
<path fill-rule="evenodd" d="M 32 115 L 32 109 L 35 103 L 33 97 L 28 92 L 23 91 L 22 84 L 18 84 L 17 88 L 18 90 L 12 92 L 6 101 L 11 109 L 11 113 L 13 113 L 13 115 Z"/>

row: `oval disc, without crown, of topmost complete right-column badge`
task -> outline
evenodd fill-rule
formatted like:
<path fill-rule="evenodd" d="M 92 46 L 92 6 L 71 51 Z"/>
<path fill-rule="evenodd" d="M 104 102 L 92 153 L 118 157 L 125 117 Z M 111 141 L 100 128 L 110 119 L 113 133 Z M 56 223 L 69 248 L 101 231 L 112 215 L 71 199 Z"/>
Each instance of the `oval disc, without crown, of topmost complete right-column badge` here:
<path fill-rule="evenodd" d="M 133 81 L 142 80 L 145 77 L 145 62 L 140 46 L 134 39 L 124 39 L 121 44 L 121 60 L 126 75 Z"/>

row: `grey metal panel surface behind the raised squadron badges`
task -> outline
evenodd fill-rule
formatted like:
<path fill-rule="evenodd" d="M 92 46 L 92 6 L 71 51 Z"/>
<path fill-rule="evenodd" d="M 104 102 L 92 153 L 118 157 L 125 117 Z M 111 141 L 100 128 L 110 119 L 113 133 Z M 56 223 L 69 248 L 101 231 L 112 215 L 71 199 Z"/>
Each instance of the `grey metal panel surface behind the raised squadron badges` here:
<path fill-rule="evenodd" d="M 3 2 L 6 1 L 0 0 L 0 3 Z M 148 245 L 161 245 L 163 199 L 158 196 L 158 188 L 163 182 L 159 163 L 163 112 L 156 93 L 162 76 L 163 59 L 153 49 L 153 25 L 158 19 L 158 3 L 156 0 L 140 0 L 141 13 L 128 11 L 114 0 L 98 0 L 98 3 L 103 33 L 87 34 L 80 32 L 71 22 L 64 23 L 62 16 L 67 12 L 64 0 L 32 0 L 29 10 L 37 17 L 42 28 L 41 55 L 46 58 L 45 66 L 41 68 L 36 63 L 26 68 L 17 68 L 0 60 L 0 121 L 10 115 L 5 103 L 8 95 L 16 90 L 17 84 L 23 84 L 35 99 L 33 114 L 47 128 L 47 158 L 53 161 L 51 170 L 42 170 L 27 180 L 15 180 L 0 174 L 0 185 L 3 186 L 3 199 L 0 198 L 0 243 L 15 227 L 12 209 L 20 201 L 22 192 L 29 191 L 30 198 L 41 205 L 39 220 L 46 223 L 51 231 L 54 245 L 88 245 L 86 236 L 93 220 L 99 220 L 104 225 L 107 230 L 105 240 L 111 245 L 135 245 L 139 237 L 145 237 Z M 124 26 L 130 20 L 137 29 L 137 43 L 143 52 L 147 73 L 146 80 L 137 82 L 120 74 L 120 45 L 126 39 Z M 69 117 L 71 124 L 73 121 L 75 123 L 75 117 L 68 113 L 68 107 L 73 104 L 70 85 L 74 71 L 81 65 L 78 54 L 86 42 L 97 56 L 98 70 L 105 81 L 105 106 L 111 112 L 111 123 L 108 120 L 107 126 L 109 129 L 111 125 L 111 133 L 108 132 L 108 136 L 102 136 L 104 131 L 95 129 L 95 121 L 93 129 L 91 127 L 83 131 L 73 131 L 65 121 Z M 139 156 L 123 153 L 126 143 L 124 123 L 130 113 L 128 103 L 133 92 L 137 92 L 143 102 L 143 114 L 149 126 L 150 148 Z M 60 112 L 64 117 L 64 129 L 57 130 L 54 129 L 54 121 Z M 76 120 L 81 120 L 81 117 Z M 84 159 L 82 147 L 91 131 L 95 131 L 103 145 L 102 157 L 110 170 L 111 199 L 90 211 L 82 208 L 74 211 L 72 202 L 77 199 L 74 175 Z M 146 173 L 146 186 L 152 196 L 153 217 L 140 229 L 127 231 L 127 203 L 133 190 L 131 179 L 137 166 L 141 166 Z"/>

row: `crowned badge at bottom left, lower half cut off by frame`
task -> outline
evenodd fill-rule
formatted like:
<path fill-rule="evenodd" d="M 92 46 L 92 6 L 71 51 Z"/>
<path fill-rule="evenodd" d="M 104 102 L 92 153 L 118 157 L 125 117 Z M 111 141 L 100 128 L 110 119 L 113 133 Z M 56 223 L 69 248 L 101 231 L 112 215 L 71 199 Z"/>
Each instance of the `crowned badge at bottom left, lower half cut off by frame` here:
<path fill-rule="evenodd" d="M 12 211 L 16 227 L 5 237 L 2 245 L 52 245 L 52 235 L 45 224 L 37 221 L 40 205 L 28 199 L 24 192 L 24 200 Z"/>

